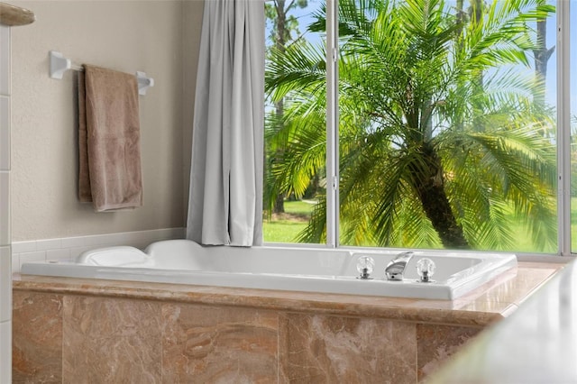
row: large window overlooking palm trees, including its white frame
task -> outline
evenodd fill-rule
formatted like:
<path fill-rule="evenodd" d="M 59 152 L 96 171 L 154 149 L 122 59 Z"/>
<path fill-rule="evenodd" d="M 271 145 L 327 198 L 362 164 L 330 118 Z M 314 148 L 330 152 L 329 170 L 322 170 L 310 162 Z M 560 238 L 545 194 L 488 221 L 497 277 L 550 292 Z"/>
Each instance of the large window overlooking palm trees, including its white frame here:
<path fill-rule="evenodd" d="M 264 241 L 575 249 L 569 5 L 267 1 Z"/>

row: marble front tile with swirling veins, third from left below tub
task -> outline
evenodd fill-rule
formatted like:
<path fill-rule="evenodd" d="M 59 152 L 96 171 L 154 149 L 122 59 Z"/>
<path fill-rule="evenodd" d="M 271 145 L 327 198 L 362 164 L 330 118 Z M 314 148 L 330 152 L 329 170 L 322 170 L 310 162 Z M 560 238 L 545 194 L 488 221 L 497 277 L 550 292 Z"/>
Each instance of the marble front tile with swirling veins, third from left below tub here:
<path fill-rule="evenodd" d="M 162 316 L 163 382 L 277 382 L 277 314 L 243 307 L 166 304 Z"/>

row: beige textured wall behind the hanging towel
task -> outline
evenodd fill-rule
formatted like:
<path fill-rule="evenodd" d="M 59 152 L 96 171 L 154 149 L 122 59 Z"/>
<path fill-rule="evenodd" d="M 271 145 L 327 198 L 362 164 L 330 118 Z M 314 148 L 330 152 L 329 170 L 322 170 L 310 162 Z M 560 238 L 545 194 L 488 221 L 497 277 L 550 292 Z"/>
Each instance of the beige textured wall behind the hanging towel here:
<path fill-rule="evenodd" d="M 186 3 L 186 5 L 185 5 Z M 184 226 L 185 110 L 196 75 L 199 1 L 20 1 L 36 23 L 13 32 L 12 239 L 15 242 Z M 186 13 L 183 12 L 186 9 Z M 184 31 L 192 37 L 184 36 Z M 186 41 L 186 44 L 185 44 Z M 188 46 L 189 52 L 182 53 Z M 144 206 L 95 214 L 78 203 L 76 73 L 49 77 L 49 50 L 155 80 L 140 96 Z M 185 61 L 186 59 L 186 61 Z M 183 98 L 185 95 L 188 98 Z"/>

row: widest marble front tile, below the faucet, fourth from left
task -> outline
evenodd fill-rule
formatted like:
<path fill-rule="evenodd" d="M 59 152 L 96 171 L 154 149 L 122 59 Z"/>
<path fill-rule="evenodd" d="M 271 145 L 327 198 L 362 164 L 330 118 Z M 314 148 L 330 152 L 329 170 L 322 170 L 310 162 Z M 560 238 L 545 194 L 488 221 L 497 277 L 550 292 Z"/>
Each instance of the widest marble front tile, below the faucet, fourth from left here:
<path fill-rule="evenodd" d="M 417 381 L 415 325 L 384 319 L 286 315 L 279 326 L 280 381 Z"/>

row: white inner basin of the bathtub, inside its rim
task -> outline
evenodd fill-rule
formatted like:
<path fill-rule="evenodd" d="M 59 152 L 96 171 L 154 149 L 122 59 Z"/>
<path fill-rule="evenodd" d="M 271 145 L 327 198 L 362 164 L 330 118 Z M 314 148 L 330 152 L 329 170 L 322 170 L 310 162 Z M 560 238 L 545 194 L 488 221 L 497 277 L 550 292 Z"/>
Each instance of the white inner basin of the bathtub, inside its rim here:
<path fill-rule="evenodd" d="M 383 279 L 384 270 L 399 251 L 339 251 L 287 247 L 210 247 L 188 240 L 153 242 L 144 251 L 133 247 L 109 247 L 86 251 L 79 264 L 101 267 L 133 267 L 160 270 L 203 270 L 226 273 L 253 273 L 304 276 L 356 277 L 357 261 L 371 256 L 375 261 L 373 279 Z M 191 257 L 194 255 L 194 257 Z M 408 262 L 406 279 L 418 279 L 417 261 L 435 262 L 434 279 L 445 281 L 481 264 L 486 255 L 440 251 L 414 251 Z"/>

